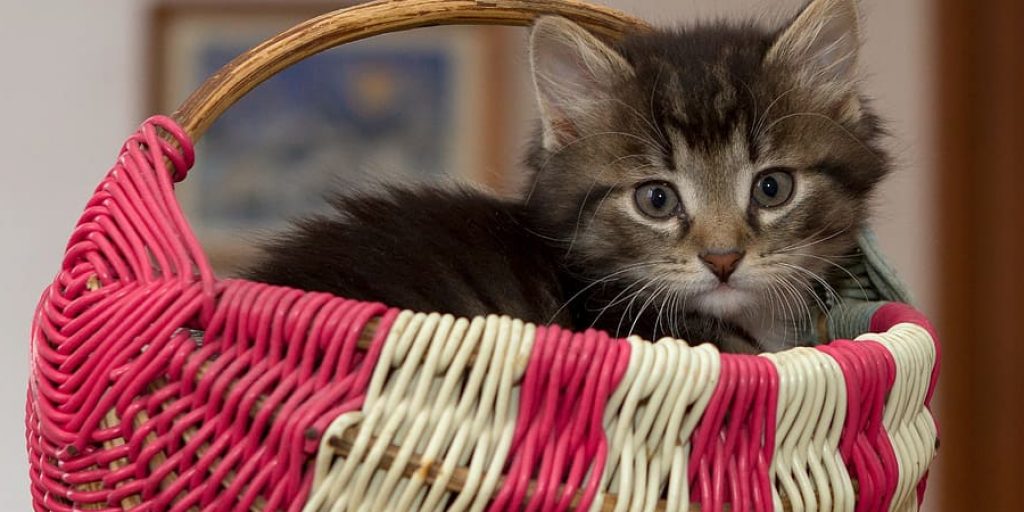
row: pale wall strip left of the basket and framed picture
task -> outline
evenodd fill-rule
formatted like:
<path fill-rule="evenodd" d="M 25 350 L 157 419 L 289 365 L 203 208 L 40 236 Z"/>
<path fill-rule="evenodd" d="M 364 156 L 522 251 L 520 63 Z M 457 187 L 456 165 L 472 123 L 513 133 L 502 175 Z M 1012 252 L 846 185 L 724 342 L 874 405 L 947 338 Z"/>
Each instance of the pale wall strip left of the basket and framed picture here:
<path fill-rule="evenodd" d="M 137 123 L 132 0 L 0 0 L 0 510 L 31 510 L 29 324 L 85 201 Z"/>

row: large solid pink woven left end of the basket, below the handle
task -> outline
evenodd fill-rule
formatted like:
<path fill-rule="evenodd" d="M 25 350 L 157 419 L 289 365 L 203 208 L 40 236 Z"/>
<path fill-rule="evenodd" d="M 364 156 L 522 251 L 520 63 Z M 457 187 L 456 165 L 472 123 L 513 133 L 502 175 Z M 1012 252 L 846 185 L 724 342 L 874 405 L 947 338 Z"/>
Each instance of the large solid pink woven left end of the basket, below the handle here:
<path fill-rule="evenodd" d="M 26 404 L 37 510 L 295 510 L 310 445 L 361 407 L 397 311 L 215 282 L 171 183 L 193 158 L 170 119 L 143 124 L 40 299 Z"/>

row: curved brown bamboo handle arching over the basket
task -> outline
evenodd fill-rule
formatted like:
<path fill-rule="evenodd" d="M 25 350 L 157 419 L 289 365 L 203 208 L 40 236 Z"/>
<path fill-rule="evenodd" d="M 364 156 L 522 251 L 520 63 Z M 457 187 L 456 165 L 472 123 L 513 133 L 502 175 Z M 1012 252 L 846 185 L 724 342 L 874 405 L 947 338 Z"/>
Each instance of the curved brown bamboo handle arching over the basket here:
<path fill-rule="evenodd" d="M 289 66 L 324 50 L 379 34 L 436 25 L 525 26 L 553 14 L 616 38 L 647 25 L 578 0 L 378 0 L 299 24 L 239 55 L 208 78 L 173 114 L 194 142 L 242 96 Z"/>

